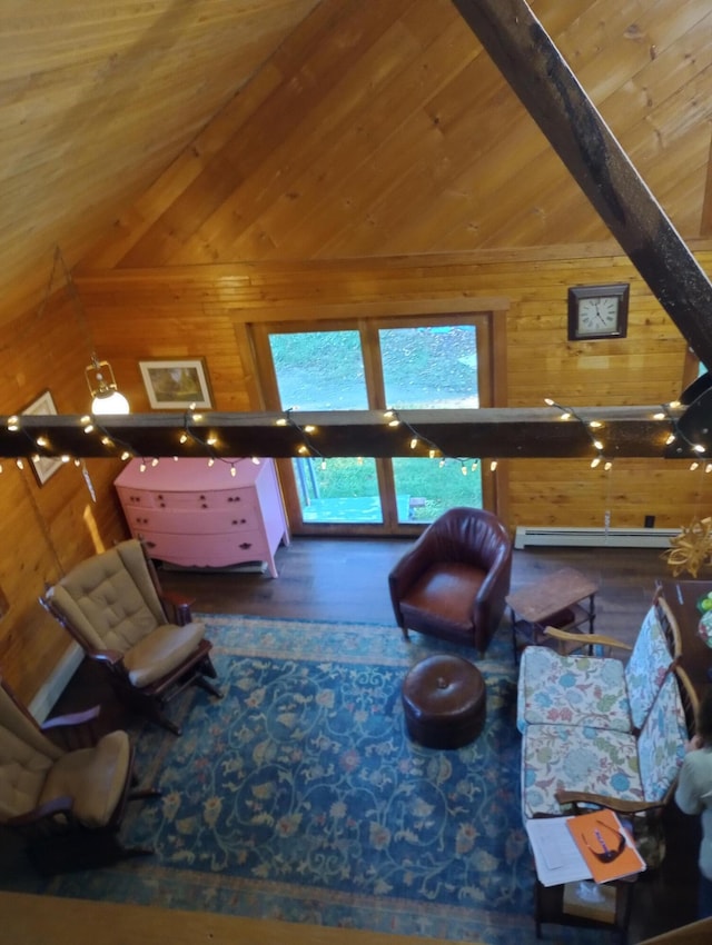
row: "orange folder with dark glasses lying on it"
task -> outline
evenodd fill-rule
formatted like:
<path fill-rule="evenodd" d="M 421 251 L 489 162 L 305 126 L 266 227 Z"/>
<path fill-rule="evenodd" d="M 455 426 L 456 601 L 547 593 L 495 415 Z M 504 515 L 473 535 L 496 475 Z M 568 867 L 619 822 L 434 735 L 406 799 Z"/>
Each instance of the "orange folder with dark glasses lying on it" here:
<path fill-rule="evenodd" d="M 595 883 L 610 883 L 645 869 L 645 861 L 613 810 L 592 810 L 570 817 L 566 824 Z"/>

